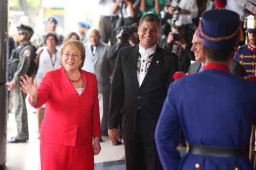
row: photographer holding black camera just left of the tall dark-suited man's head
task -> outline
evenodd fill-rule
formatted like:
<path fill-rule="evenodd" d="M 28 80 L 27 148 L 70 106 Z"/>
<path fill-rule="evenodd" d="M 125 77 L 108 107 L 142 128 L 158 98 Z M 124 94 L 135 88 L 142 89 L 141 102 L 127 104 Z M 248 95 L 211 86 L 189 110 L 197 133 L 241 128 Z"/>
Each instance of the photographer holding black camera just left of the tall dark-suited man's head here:
<path fill-rule="evenodd" d="M 120 48 L 125 46 L 133 46 L 139 43 L 138 23 L 133 23 L 131 26 L 122 26 L 117 34 L 117 42 L 111 46 L 109 59 L 115 59 Z"/>

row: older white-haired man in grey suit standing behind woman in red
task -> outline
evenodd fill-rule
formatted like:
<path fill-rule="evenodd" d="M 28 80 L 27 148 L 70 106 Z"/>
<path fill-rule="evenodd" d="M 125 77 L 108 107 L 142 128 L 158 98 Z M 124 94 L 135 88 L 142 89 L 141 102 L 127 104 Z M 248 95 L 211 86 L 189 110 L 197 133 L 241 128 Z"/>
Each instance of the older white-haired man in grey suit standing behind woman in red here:
<path fill-rule="evenodd" d="M 85 44 L 86 57 L 82 69 L 94 73 L 97 77 L 101 134 L 107 136 L 107 113 L 109 111 L 109 95 L 111 90 L 110 76 L 113 70 L 113 64 L 107 59 L 107 54 L 111 46 L 99 41 L 101 35 L 98 29 L 89 29 L 87 35 L 88 43 Z"/>

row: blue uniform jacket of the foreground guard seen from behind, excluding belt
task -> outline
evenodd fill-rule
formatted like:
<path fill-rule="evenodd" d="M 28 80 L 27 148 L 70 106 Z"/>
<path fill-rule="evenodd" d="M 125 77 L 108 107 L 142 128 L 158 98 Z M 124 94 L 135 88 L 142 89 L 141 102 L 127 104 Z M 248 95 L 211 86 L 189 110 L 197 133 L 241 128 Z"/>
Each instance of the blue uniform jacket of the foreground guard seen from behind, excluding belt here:
<path fill-rule="evenodd" d="M 182 128 L 188 143 L 246 147 L 256 121 L 256 84 L 223 70 L 204 70 L 174 81 L 155 133 L 164 169 L 253 169 L 248 157 L 205 157 L 176 147 Z"/>

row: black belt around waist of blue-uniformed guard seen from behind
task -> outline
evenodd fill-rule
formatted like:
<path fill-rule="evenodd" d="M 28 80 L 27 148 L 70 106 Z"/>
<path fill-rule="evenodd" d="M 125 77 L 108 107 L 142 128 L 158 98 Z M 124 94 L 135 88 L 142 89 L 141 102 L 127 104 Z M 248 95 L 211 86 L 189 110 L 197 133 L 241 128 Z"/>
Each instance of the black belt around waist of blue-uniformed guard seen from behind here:
<path fill-rule="evenodd" d="M 214 147 L 188 144 L 188 153 L 206 157 L 248 157 L 247 147 Z"/>

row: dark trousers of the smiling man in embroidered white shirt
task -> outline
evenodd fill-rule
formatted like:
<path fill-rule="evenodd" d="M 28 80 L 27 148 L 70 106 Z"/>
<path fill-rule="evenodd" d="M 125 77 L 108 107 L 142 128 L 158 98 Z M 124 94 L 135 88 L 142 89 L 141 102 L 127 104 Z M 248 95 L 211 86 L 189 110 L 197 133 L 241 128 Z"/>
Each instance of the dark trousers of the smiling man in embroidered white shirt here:
<path fill-rule="evenodd" d="M 163 169 L 155 142 L 147 139 L 143 133 L 145 130 L 147 127 L 142 127 L 141 116 L 138 112 L 136 135 L 132 141 L 124 141 L 126 170 Z"/>

